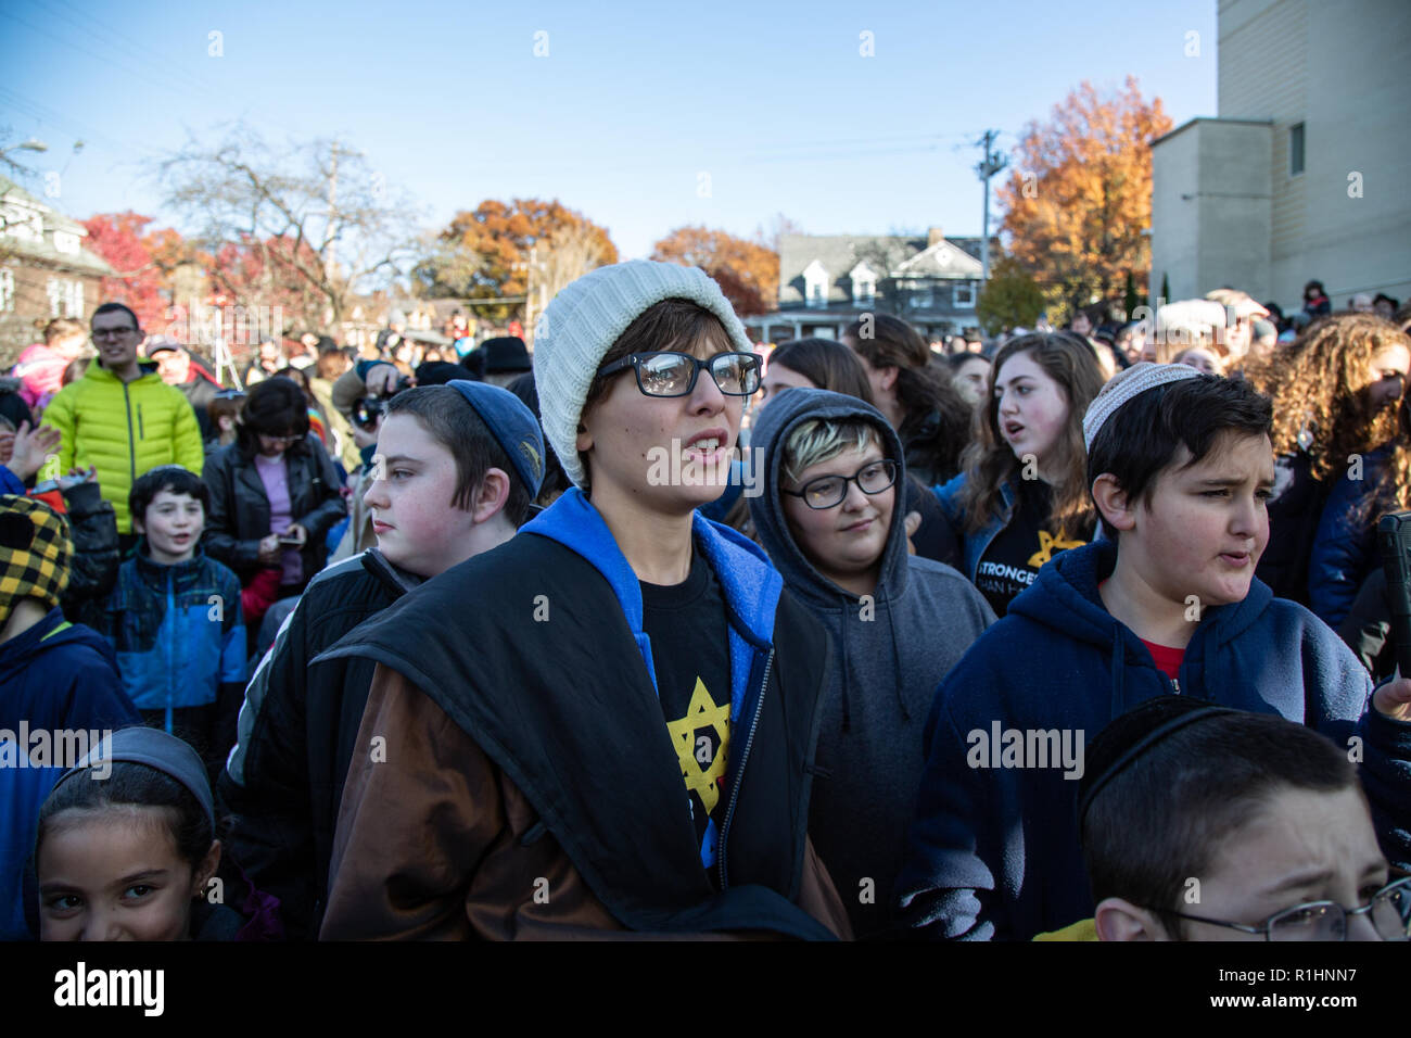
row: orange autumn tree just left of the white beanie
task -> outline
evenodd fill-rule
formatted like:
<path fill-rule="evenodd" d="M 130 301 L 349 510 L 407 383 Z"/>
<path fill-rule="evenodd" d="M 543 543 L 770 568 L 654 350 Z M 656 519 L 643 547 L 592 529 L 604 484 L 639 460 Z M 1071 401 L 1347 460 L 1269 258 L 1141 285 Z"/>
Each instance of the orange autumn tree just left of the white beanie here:
<path fill-rule="evenodd" d="M 471 305 L 495 299 L 476 311 L 504 319 L 525 316 L 531 288 L 531 308 L 539 312 L 570 281 L 617 260 L 607 229 L 559 199 L 491 198 L 473 212 L 456 213 L 412 280 L 423 297 L 457 297 Z"/>

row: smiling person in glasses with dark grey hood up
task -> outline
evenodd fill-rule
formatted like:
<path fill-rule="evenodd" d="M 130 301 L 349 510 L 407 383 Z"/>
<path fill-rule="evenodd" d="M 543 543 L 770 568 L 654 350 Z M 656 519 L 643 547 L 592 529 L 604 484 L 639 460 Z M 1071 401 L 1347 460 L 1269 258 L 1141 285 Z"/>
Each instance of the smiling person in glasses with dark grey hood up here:
<path fill-rule="evenodd" d="M 751 452 L 763 484 L 749 499 L 759 542 L 828 628 L 841 679 L 818 726 L 809 832 L 854 933 L 879 936 L 893 925 L 935 686 L 995 613 L 961 573 L 907 554 L 904 451 L 872 405 L 786 388 L 755 419 Z"/>

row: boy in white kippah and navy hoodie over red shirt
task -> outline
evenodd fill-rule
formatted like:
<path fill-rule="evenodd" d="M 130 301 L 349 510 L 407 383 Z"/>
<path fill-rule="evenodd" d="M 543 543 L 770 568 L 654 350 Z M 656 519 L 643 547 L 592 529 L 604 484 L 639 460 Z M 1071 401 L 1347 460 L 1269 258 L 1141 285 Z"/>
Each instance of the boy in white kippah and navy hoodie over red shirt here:
<path fill-rule="evenodd" d="M 947 676 L 897 888 L 937 938 L 1029 939 L 1092 915 L 1082 744 L 1158 695 L 1278 713 L 1362 765 L 1377 836 L 1411 860 L 1411 681 L 1254 578 L 1271 408 L 1243 381 L 1137 364 L 1084 419 L 1103 539 L 1060 555 Z"/>

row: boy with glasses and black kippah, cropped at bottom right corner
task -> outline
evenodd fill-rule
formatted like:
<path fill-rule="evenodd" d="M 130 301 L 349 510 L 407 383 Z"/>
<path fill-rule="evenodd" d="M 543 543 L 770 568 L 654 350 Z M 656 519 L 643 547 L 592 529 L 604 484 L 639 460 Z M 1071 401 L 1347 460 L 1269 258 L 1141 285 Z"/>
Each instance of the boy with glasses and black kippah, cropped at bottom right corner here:
<path fill-rule="evenodd" d="M 1408 939 L 1411 878 L 1304 724 L 1160 696 L 1092 740 L 1078 798 L 1095 915 L 1038 939 Z"/>

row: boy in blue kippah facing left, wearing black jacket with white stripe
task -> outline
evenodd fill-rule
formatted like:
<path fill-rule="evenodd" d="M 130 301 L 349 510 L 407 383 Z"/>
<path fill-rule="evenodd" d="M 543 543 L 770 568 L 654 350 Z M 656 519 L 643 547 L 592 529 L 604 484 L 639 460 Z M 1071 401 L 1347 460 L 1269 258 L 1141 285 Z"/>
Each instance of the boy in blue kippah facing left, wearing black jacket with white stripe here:
<path fill-rule="evenodd" d="M 219 792 L 231 846 L 282 902 L 293 938 L 317 933 L 343 777 L 374 664 L 312 667 L 339 638 L 406 592 L 515 535 L 543 479 L 533 412 L 508 390 L 464 380 L 392 397 L 377 435 L 368 548 L 319 573 L 246 692 L 240 739 Z"/>

